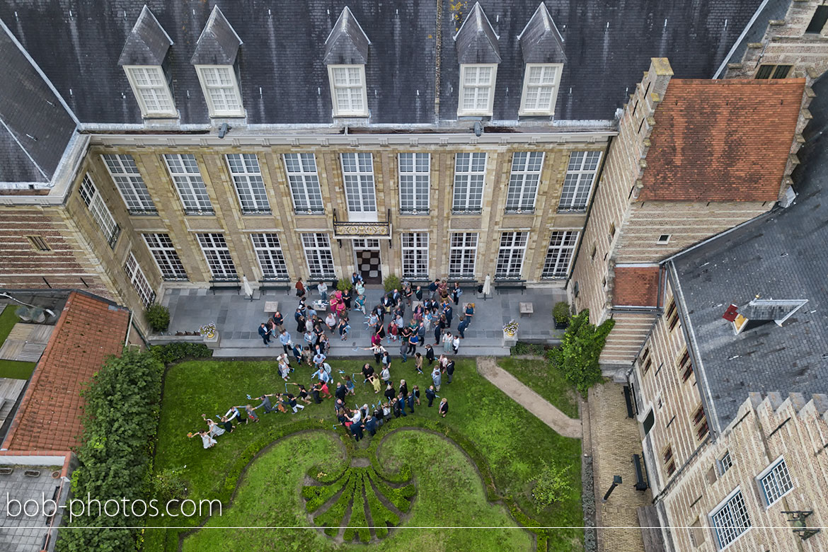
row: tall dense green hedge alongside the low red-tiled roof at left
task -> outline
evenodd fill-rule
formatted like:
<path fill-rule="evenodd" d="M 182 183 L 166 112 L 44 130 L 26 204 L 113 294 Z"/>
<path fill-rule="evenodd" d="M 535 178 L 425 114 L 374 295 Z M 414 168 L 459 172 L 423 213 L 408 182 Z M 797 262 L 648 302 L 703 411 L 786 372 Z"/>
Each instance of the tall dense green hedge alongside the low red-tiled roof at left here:
<path fill-rule="evenodd" d="M 125 351 L 110 357 L 83 391 L 84 433 L 72 473 L 72 494 L 102 504 L 109 499 L 147 500 L 161 406 L 163 367 L 152 355 Z M 175 487 L 175 486 L 173 486 Z M 93 509 L 74 516 L 57 542 L 59 552 L 137 550 L 142 518 L 129 511 L 99 516 Z M 108 530 L 94 528 L 106 527 Z"/>

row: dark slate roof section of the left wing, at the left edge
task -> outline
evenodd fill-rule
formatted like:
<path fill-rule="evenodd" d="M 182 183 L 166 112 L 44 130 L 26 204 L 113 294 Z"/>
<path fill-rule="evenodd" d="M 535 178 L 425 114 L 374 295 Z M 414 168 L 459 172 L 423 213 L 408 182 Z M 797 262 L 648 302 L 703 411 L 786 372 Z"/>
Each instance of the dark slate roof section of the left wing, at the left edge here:
<path fill-rule="evenodd" d="M 48 182 L 75 121 L 2 22 L 0 74 L 0 182 Z"/>

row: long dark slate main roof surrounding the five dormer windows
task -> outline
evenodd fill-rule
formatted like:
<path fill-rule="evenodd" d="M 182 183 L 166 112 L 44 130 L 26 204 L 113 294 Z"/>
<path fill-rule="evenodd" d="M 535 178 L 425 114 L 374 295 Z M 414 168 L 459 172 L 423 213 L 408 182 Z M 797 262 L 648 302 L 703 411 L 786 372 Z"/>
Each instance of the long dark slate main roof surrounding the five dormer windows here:
<path fill-rule="evenodd" d="M 209 122 L 190 59 L 216 5 L 243 41 L 238 51 L 238 73 L 248 123 L 333 122 L 323 61 L 325 39 L 347 5 L 371 40 L 366 65 L 370 122 L 405 125 L 436 122 L 438 2 L 443 14 L 439 117 L 453 121 L 460 70 L 454 36 L 472 9 L 470 2 L 148 0 L 147 5 L 174 42 L 167 62 L 182 124 Z M 80 121 L 139 124 L 140 109 L 118 58 L 144 3 L 7 0 L 0 2 L 0 18 L 26 46 Z M 500 36 L 502 60 L 494 119 L 517 119 L 524 63 L 517 36 L 537 12 L 539 3 L 480 2 L 493 31 Z M 561 32 L 567 57 L 556 118 L 612 119 L 615 109 L 627 101 L 641 80 L 652 56 L 667 56 L 676 77 L 710 78 L 760 3 L 549 2 L 547 7 Z"/>

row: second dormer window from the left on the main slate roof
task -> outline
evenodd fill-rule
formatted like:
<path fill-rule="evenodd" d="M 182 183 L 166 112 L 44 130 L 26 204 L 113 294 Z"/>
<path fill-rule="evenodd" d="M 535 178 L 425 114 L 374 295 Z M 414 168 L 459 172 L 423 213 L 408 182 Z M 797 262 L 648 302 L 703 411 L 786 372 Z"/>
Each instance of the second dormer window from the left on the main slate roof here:
<path fill-rule="evenodd" d="M 215 6 L 190 58 L 199 75 L 210 117 L 244 117 L 235 69 L 239 46 L 242 39 Z"/>

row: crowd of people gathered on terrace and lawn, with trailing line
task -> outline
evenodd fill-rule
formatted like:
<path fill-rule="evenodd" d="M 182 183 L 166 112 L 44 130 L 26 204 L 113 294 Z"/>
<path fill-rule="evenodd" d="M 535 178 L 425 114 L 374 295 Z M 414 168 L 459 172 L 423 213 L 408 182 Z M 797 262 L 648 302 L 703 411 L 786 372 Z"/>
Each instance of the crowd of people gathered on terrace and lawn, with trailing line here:
<path fill-rule="evenodd" d="M 450 287 L 445 279 L 438 279 L 431 282 L 426 290 L 421 286 L 412 286 L 410 282 L 402 282 L 401 290 L 394 289 L 383 295 L 379 304 L 368 313 L 365 308 L 363 278 L 354 272 L 350 289 L 337 289 L 329 293 L 325 282 L 320 282 L 317 286 L 320 300 L 327 303 L 328 314 L 324 319 L 312 303 L 309 305 L 308 288 L 301 279 L 296 282 L 295 289 L 299 305 L 293 316 L 301 341 L 294 342 L 291 333 L 285 327 L 285 319 L 280 311 L 275 312 L 266 322 L 262 322 L 258 329 L 265 347 L 270 347 L 274 336 L 282 345 L 283 352 L 277 356 L 277 366 L 279 376 L 285 382 L 285 391 L 255 397 L 255 401 L 260 402 L 258 406 L 231 406 L 224 415 L 215 415 L 215 420 L 203 414 L 207 429 L 190 432 L 187 434 L 188 437 L 200 437 L 204 448 L 209 449 L 218 442 L 219 436 L 232 432 L 238 425 L 258 422 L 258 410 L 264 414 L 296 414 L 298 410 L 304 410 L 305 405 L 320 404 L 325 399 L 335 399 L 334 409 L 339 425 L 355 440 L 363 439 L 365 432 L 374 435 L 388 421 L 406 416 L 406 409 L 413 414 L 414 407 L 421 405 L 419 386 L 414 385 L 409 389 L 406 381 L 400 379 L 395 387 L 395 380 L 391 376 L 391 353 L 383 342 L 387 343 L 389 348 L 392 347 L 392 343 L 399 343 L 399 356 L 402 362 L 408 362 L 408 359 L 412 358 L 418 374 L 425 373 L 423 364 L 427 362 L 427 369 L 431 370 L 431 386 L 423 393 L 427 406 L 431 407 L 439 398 L 438 414 L 442 417 L 448 414 L 448 400 L 437 393 L 440 392 L 444 377 L 446 383 L 451 383 L 455 373 L 455 361 L 449 355 L 458 353 L 460 343 L 465 338 L 465 330 L 474 319 L 474 303 L 469 303 L 458 317 L 456 332 L 452 334 L 451 324 L 455 319 L 455 307 L 460 304 L 460 295 L 463 293 L 457 282 Z M 326 332 L 330 332 L 332 337 L 339 334 L 343 340 L 348 338 L 349 313 L 354 310 L 363 314 L 364 324 L 370 330 L 370 346 L 363 349 L 373 353 L 378 370 L 376 372 L 370 363 L 365 363 L 361 372 L 363 385 L 370 384 L 375 394 L 383 392 L 385 399 L 371 405 L 370 408 L 367 403 L 363 406 L 354 405 L 353 409 L 349 407 L 347 398 L 356 394 L 354 379 L 358 374 L 349 375 L 339 371 L 339 381 L 335 382 L 336 376 L 327 362 L 330 341 Z M 405 321 L 407 311 L 410 315 L 408 322 Z M 427 337 L 432 333 L 433 345 L 426 343 Z M 435 348 L 440 346 L 442 353 L 437 356 Z M 296 362 L 297 367 L 311 367 L 310 379 L 315 382 L 309 386 L 310 388 L 290 381 L 291 374 L 296 371 L 291 362 Z M 331 394 L 330 387 L 334 385 L 335 390 Z M 291 390 L 294 392 L 288 391 L 288 386 L 296 386 L 296 389 Z M 249 395 L 247 398 L 248 401 L 252 399 Z"/>

